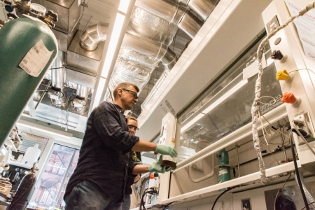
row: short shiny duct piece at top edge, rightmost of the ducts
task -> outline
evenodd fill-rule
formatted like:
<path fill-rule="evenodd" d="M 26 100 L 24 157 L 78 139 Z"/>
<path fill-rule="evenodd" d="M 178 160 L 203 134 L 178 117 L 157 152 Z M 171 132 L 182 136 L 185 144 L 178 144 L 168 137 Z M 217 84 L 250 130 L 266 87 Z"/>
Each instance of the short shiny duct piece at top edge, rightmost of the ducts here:
<path fill-rule="evenodd" d="M 216 4 L 211 0 L 179 0 L 179 3 L 189 6 L 202 18 L 202 20 L 206 20 L 216 6 Z"/>

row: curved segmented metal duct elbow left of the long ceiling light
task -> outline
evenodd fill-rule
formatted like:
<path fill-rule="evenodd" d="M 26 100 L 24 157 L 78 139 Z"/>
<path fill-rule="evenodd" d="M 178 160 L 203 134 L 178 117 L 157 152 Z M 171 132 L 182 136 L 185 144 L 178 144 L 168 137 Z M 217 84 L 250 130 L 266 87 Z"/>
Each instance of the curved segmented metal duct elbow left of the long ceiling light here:
<path fill-rule="evenodd" d="M 99 22 L 88 27 L 81 36 L 80 45 L 83 49 L 92 51 L 100 41 L 105 41 L 109 31 L 109 23 Z"/>

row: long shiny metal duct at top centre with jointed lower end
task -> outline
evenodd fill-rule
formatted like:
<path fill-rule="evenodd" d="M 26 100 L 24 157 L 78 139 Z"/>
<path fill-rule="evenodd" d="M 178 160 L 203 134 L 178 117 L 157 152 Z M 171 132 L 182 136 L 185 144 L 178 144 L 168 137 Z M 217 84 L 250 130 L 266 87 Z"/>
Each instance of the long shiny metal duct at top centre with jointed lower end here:
<path fill-rule="evenodd" d="M 190 13 L 188 7 L 181 6 L 179 3 L 167 0 L 137 0 L 135 5 L 177 25 L 190 38 L 194 38 L 202 27 L 202 22 Z"/>

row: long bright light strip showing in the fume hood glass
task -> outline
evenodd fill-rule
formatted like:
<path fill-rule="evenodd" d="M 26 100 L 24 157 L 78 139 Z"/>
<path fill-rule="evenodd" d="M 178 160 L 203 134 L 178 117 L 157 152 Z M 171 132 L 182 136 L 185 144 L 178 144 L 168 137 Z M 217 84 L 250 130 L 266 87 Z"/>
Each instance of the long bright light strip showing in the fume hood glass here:
<path fill-rule="evenodd" d="M 233 93 L 237 92 L 237 90 L 239 90 L 239 88 L 246 85 L 246 83 L 248 83 L 247 79 L 241 80 L 239 83 L 237 83 L 235 86 L 233 86 L 230 90 L 228 90 L 228 92 L 225 92 L 225 94 L 223 94 L 223 96 L 218 98 L 214 103 L 210 104 L 210 106 L 208 106 L 206 109 L 204 109 L 204 111 L 199 113 L 197 116 L 195 116 L 195 118 L 193 118 L 185 126 L 183 126 L 181 128 L 181 133 L 186 131 L 190 126 L 194 125 L 198 120 L 200 120 L 203 116 L 205 116 L 207 113 L 209 113 L 216 106 L 218 106 L 219 104 L 224 102 L 225 99 L 228 99 L 228 97 L 230 97 Z"/>

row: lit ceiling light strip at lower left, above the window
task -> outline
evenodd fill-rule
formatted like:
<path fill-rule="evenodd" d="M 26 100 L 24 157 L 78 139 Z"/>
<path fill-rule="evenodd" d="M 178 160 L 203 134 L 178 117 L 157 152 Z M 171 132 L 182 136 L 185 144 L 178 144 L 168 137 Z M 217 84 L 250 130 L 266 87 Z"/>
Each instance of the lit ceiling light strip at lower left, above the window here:
<path fill-rule="evenodd" d="M 55 129 L 52 129 L 50 127 L 45 127 L 43 125 L 37 125 L 35 123 L 30 123 L 30 122 L 27 122 L 25 120 L 19 120 L 17 125 L 28 127 L 30 129 L 37 130 L 37 131 L 40 131 L 40 132 L 43 132 L 46 134 L 53 134 L 55 136 L 63 137 L 66 139 L 71 139 L 71 137 L 72 137 L 72 134 L 70 134 L 70 133 L 63 132 L 61 130 L 55 130 Z"/>

